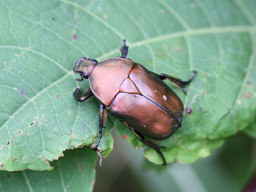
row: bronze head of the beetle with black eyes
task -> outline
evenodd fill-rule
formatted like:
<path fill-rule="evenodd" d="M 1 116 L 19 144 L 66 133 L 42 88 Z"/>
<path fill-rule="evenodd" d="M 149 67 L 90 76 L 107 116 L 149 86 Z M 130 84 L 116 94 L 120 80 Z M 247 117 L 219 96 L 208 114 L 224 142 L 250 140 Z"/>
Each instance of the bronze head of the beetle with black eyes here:
<path fill-rule="evenodd" d="M 81 57 L 73 68 L 73 71 L 79 73 L 81 76 L 81 79 L 76 79 L 76 81 L 83 81 L 83 77 L 88 79 L 97 63 L 98 62 L 94 59 L 91 60 L 90 58 L 86 59 L 85 57 Z"/>

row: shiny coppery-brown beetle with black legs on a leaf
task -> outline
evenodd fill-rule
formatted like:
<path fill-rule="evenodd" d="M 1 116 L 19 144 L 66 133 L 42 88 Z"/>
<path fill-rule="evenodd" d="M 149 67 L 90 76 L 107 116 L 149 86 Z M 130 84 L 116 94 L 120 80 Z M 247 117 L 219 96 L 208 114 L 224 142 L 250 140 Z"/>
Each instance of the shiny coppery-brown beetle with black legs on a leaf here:
<path fill-rule="evenodd" d="M 90 90 L 80 93 L 80 87 L 74 89 L 76 100 L 83 102 L 95 95 L 100 100 L 99 139 L 93 150 L 97 150 L 100 143 L 104 109 L 134 133 L 144 144 L 153 148 L 163 159 L 165 158 L 154 140 L 165 140 L 171 137 L 180 127 L 183 117 L 183 104 L 172 89 L 164 83 L 164 79 L 183 89 L 189 84 L 196 71 L 193 71 L 188 81 L 182 81 L 166 74 L 156 74 L 148 71 L 139 63 L 126 59 L 128 46 L 120 48 L 120 57 L 109 58 L 98 62 L 95 59 L 80 58 L 73 68 L 80 74 L 83 81 L 89 79 Z"/>

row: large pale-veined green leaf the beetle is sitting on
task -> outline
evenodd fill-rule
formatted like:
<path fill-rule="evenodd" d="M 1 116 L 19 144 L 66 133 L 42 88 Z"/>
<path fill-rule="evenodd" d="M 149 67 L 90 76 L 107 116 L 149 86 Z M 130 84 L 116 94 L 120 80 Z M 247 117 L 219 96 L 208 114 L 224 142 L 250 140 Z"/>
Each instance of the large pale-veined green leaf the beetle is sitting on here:
<path fill-rule="evenodd" d="M 72 68 L 82 57 L 103 60 L 120 55 L 156 73 L 193 82 L 180 96 L 182 128 L 157 142 L 167 160 L 193 162 L 223 139 L 255 122 L 255 1 L 0 1 L 0 169 L 51 170 L 48 161 L 67 148 L 95 145 L 99 101 L 74 100 Z M 110 116 L 109 116 L 110 117 Z M 113 117 L 99 145 L 113 148 L 110 130 L 142 144 Z M 162 159 L 152 149 L 145 156 Z"/>

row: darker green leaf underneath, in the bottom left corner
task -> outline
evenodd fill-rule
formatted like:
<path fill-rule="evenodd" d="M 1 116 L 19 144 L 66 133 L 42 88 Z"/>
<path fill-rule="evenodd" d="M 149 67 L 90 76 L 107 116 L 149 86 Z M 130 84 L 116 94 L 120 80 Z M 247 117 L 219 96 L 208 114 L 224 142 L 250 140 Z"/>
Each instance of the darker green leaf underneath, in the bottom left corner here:
<path fill-rule="evenodd" d="M 52 171 L 0 172 L 1 191 L 92 191 L 97 153 L 89 147 L 64 151 Z M 13 185 L 15 183 L 15 185 Z"/>

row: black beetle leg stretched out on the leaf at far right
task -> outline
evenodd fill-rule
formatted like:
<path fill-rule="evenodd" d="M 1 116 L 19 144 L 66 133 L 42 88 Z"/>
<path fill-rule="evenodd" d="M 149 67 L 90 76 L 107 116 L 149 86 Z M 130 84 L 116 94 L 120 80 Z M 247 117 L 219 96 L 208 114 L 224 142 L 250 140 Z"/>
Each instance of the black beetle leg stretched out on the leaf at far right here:
<path fill-rule="evenodd" d="M 151 73 L 153 73 L 154 75 L 159 77 L 161 80 L 168 79 L 173 84 L 175 84 L 178 87 L 182 88 L 182 90 L 185 93 L 185 95 L 187 95 L 186 90 L 185 90 L 185 85 L 188 85 L 194 79 L 196 71 L 193 71 L 193 74 L 192 74 L 192 76 L 190 77 L 190 79 L 188 81 L 182 81 L 182 80 L 180 80 L 180 79 L 178 79 L 178 78 L 176 78 L 174 76 L 166 75 L 166 74 L 163 74 L 163 73 L 161 73 L 161 74 L 156 74 L 154 72 L 151 72 Z"/>

